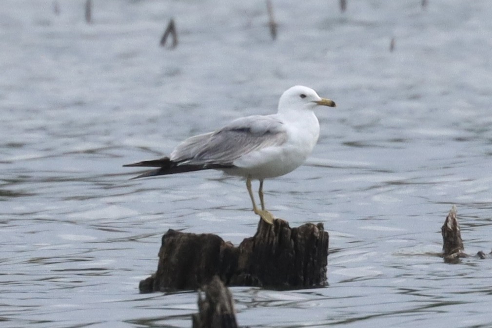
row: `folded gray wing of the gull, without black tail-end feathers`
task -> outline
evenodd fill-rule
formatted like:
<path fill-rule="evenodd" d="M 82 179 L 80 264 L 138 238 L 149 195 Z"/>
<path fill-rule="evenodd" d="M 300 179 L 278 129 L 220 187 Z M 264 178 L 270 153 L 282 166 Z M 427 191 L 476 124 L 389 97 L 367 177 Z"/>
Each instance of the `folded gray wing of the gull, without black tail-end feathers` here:
<path fill-rule="evenodd" d="M 248 116 L 215 132 L 186 139 L 171 153 L 171 160 L 191 165 L 232 165 L 248 152 L 279 146 L 286 140 L 285 127 L 275 116 Z"/>

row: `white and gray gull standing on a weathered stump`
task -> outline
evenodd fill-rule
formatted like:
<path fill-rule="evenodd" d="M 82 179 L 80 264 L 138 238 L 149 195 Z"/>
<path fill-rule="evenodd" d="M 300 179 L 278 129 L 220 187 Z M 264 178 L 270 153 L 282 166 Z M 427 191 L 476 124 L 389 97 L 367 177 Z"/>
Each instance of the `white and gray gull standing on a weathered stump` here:
<path fill-rule="evenodd" d="M 169 157 L 142 161 L 127 166 L 156 167 L 135 178 L 215 169 L 246 179 L 253 211 L 273 224 L 274 216 L 265 209 L 263 181 L 283 176 L 302 165 L 319 137 L 317 106 L 335 107 L 313 89 L 295 86 L 278 101 L 277 114 L 253 115 L 235 119 L 221 129 L 188 138 Z M 251 180 L 259 180 L 256 206 Z"/>

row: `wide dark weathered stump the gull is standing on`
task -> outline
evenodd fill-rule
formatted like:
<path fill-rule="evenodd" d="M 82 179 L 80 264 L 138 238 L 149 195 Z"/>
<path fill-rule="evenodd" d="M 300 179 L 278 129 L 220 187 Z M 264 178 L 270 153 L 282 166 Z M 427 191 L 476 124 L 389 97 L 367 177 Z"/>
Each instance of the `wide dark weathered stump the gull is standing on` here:
<path fill-rule="evenodd" d="M 328 232 L 323 224 L 290 228 L 262 220 L 238 247 L 212 234 L 169 230 L 162 237 L 157 271 L 140 292 L 196 290 L 217 275 L 229 286 L 307 288 L 327 283 Z"/>

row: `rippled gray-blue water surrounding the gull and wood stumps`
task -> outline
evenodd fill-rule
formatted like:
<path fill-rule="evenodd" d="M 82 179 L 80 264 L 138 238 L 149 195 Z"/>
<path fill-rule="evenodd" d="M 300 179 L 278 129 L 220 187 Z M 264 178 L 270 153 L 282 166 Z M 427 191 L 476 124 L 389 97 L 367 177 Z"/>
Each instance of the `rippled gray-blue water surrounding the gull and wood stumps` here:
<path fill-rule="evenodd" d="M 122 164 L 272 113 L 295 84 L 338 107 L 266 201 L 291 226 L 324 223 L 330 286 L 232 288 L 240 324 L 492 326 L 491 261 L 432 255 L 452 204 L 465 250 L 492 247 L 490 1 L 274 1 L 275 42 L 250 2 L 93 0 L 86 24 L 82 0 L 2 1 L 2 327 L 190 327 L 196 293 L 138 282 L 169 228 L 252 235 L 244 182 L 129 181 Z M 174 50 L 158 45 L 171 17 Z"/>

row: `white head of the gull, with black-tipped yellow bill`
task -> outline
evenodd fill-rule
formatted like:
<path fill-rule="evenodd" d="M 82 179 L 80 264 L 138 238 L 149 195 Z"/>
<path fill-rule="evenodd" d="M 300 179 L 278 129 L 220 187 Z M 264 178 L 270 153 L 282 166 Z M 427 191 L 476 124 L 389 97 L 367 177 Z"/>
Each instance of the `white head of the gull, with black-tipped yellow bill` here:
<path fill-rule="evenodd" d="M 330 99 L 321 98 L 316 91 L 303 86 L 295 86 L 280 96 L 278 101 L 278 112 L 288 109 L 313 110 L 316 106 L 335 107 L 335 102 Z"/>

